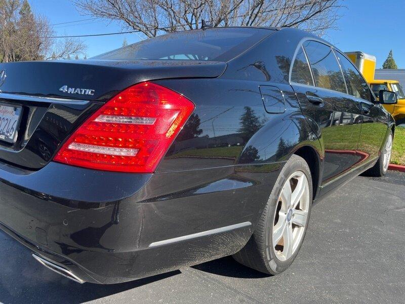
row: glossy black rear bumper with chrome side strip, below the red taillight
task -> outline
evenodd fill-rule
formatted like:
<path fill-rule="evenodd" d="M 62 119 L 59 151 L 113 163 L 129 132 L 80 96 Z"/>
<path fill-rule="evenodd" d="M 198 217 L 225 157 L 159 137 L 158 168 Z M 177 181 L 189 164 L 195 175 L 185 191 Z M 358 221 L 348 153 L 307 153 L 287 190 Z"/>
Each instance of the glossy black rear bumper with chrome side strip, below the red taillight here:
<path fill-rule="evenodd" d="M 130 281 L 237 252 L 281 167 L 128 174 L 3 165 L 0 228 L 83 281 Z"/>

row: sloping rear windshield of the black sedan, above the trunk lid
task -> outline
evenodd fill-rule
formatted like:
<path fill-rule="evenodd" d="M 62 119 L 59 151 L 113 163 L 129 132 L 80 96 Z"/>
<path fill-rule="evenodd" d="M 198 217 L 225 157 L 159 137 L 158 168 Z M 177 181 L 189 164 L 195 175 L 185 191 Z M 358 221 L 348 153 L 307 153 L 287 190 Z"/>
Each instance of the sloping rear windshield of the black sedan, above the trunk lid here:
<path fill-rule="evenodd" d="M 92 59 L 229 61 L 272 30 L 263 28 L 210 28 L 149 38 Z"/>

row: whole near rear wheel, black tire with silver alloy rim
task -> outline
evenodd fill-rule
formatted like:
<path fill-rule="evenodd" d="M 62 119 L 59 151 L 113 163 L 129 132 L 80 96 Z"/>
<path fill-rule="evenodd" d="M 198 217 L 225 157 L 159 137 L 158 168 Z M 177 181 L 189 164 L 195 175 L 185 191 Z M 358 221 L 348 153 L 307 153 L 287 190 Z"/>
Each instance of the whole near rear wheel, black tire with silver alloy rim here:
<path fill-rule="evenodd" d="M 234 259 L 267 274 L 285 271 L 304 240 L 311 205 L 311 172 L 303 158 L 293 155 L 277 178 L 256 231 Z"/>

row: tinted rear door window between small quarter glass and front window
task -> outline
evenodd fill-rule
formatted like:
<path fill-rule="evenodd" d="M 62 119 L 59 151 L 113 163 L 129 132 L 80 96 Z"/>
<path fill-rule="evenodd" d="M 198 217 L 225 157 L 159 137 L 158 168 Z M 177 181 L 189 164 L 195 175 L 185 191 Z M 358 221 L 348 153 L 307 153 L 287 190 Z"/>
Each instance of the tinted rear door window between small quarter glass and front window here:
<path fill-rule="evenodd" d="M 312 68 L 315 86 L 347 93 L 342 71 L 332 49 L 315 41 L 308 41 L 303 45 Z"/>

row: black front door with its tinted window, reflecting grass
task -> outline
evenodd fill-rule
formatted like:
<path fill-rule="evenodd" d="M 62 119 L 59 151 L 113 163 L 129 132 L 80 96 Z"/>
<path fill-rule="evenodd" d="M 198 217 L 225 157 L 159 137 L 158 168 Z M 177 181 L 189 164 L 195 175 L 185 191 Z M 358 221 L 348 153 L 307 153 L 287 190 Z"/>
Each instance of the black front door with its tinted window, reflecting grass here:
<path fill-rule="evenodd" d="M 366 80 L 344 55 L 336 52 L 343 68 L 349 94 L 362 110 L 361 135 L 357 148 L 358 163 L 379 157 L 383 137 L 387 130 L 387 113 L 381 104 L 376 104 Z"/>

